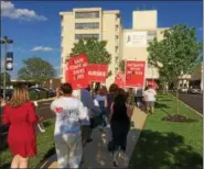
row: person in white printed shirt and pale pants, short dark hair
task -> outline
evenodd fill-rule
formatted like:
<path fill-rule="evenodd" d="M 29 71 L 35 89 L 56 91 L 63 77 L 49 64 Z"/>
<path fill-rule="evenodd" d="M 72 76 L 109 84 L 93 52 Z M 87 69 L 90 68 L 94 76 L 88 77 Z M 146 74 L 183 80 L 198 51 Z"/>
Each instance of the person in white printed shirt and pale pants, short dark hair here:
<path fill-rule="evenodd" d="M 83 103 L 73 98 L 69 83 L 62 84 L 61 91 L 62 95 L 51 104 L 56 114 L 54 139 L 57 164 L 58 168 L 78 168 L 83 154 L 79 121 L 88 121 L 88 113 Z"/>

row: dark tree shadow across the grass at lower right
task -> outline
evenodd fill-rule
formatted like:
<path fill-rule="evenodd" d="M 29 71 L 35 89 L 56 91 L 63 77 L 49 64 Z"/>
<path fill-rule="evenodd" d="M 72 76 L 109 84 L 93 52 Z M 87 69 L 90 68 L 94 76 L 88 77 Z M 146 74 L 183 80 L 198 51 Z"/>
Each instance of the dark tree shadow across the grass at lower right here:
<path fill-rule="evenodd" d="M 128 169 L 203 168 L 203 157 L 175 133 L 142 131 Z"/>

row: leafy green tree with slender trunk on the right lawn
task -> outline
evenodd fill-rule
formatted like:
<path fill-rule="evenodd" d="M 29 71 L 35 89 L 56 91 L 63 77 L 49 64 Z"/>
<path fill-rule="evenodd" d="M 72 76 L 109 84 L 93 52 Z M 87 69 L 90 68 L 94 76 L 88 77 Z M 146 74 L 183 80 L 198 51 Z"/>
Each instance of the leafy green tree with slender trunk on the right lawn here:
<path fill-rule="evenodd" d="M 155 66 L 176 87 L 183 75 L 190 74 L 197 63 L 202 43 L 196 42 L 195 29 L 179 24 L 162 32 L 163 40 L 149 44 L 149 63 Z M 176 99 L 179 104 L 179 101 Z M 178 106 L 179 113 L 179 106 Z"/>

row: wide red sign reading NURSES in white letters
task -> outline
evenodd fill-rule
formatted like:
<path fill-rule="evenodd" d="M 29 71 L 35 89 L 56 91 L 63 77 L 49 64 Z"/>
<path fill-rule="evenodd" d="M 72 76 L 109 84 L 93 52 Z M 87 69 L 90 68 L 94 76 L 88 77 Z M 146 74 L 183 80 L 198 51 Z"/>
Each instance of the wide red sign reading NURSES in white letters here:
<path fill-rule="evenodd" d="M 88 81 L 89 82 L 106 82 L 108 66 L 101 64 L 88 64 Z"/>

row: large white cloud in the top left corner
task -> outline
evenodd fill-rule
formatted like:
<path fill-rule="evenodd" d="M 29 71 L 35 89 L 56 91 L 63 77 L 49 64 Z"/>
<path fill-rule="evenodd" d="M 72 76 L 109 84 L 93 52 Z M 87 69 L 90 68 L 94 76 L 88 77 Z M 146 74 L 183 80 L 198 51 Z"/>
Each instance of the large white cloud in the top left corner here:
<path fill-rule="evenodd" d="M 1 1 L 1 16 L 10 18 L 13 20 L 37 20 L 46 21 L 47 19 L 44 15 L 39 15 L 33 10 L 29 9 L 17 9 L 14 4 L 10 1 Z"/>

